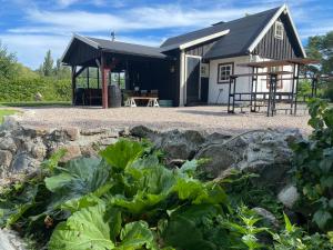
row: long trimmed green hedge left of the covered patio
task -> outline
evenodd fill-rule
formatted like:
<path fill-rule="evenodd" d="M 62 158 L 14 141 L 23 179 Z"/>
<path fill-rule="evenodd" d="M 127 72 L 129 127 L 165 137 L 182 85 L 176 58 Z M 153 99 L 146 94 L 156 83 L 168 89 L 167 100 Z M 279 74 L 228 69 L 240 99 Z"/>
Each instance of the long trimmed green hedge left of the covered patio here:
<path fill-rule="evenodd" d="M 42 101 L 71 100 L 70 79 L 19 78 L 0 80 L 0 102 L 34 101 L 37 93 Z"/>

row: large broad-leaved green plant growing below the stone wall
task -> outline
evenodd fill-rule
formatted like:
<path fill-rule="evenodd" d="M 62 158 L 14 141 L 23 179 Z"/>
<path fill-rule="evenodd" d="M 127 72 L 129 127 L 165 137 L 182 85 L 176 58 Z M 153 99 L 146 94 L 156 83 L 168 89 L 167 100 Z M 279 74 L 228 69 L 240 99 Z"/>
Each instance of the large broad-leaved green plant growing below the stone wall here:
<path fill-rule="evenodd" d="M 286 221 L 286 230 L 272 232 L 273 246 L 269 232 L 275 229 L 263 227 L 254 211 L 241 206 L 251 203 L 250 197 L 236 197 L 246 184 L 249 192 L 263 193 L 250 186 L 251 174 L 205 181 L 198 178 L 201 160 L 168 169 L 147 141 L 120 140 L 100 158 L 60 166 L 63 153 L 43 162 L 34 179 L 0 194 L 1 227 L 16 229 L 34 249 L 292 249 L 290 237 L 309 249 L 331 244 L 330 233 L 297 234 Z M 259 201 L 276 206 L 270 194 Z"/>

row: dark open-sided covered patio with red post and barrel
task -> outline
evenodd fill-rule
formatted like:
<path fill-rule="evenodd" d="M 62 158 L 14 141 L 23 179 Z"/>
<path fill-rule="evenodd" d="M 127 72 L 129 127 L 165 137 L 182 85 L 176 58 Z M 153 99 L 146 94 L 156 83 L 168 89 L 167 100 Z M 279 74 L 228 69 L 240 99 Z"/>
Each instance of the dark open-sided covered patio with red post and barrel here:
<path fill-rule="evenodd" d="M 160 99 L 178 106 L 178 60 L 158 48 L 75 34 L 62 62 L 72 69 L 73 106 L 107 109 L 131 97 L 138 104 Z"/>

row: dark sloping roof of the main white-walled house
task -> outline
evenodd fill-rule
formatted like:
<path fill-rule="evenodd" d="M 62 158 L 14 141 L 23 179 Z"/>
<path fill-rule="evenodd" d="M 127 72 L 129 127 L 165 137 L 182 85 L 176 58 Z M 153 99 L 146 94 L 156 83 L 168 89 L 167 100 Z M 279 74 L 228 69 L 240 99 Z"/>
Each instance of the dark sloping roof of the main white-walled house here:
<path fill-rule="evenodd" d="M 229 29 L 230 32 L 218 40 L 204 58 L 214 59 L 246 54 L 251 43 L 279 9 L 280 7 L 260 13 L 250 14 L 233 21 L 219 22 L 205 29 L 169 38 L 165 42 L 163 42 L 161 49 L 162 51 L 175 49 L 185 42 Z"/>

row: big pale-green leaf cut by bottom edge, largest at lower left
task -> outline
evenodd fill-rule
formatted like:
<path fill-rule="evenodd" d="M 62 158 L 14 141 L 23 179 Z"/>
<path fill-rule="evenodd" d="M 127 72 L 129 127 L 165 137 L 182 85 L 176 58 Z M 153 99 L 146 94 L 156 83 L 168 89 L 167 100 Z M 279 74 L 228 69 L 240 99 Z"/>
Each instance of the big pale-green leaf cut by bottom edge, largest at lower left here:
<path fill-rule="evenodd" d="M 110 227 L 104 221 L 103 206 L 82 209 L 60 223 L 49 242 L 50 250 L 109 250 L 114 249 L 110 240 Z"/>

